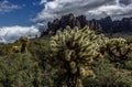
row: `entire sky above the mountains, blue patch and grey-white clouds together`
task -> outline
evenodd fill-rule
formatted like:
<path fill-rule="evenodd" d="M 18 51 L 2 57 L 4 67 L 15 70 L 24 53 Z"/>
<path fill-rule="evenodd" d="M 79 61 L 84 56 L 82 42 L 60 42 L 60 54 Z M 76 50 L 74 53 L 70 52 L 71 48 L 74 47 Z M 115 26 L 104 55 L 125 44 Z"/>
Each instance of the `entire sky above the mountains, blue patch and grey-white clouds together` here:
<path fill-rule="evenodd" d="M 132 0 L 0 0 L 0 42 L 38 35 L 40 26 L 68 13 L 120 20 L 132 17 Z"/>

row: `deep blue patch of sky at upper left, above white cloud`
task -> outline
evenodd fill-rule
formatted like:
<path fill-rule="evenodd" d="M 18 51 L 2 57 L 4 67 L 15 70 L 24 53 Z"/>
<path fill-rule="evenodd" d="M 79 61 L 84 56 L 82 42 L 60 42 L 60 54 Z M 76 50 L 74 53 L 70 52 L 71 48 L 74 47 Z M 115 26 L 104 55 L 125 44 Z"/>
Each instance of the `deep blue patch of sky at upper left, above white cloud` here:
<path fill-rule="evenodd" d="M 42 9 L 41 0 L 0 0 L 0 26 L 30 26 Z"/>

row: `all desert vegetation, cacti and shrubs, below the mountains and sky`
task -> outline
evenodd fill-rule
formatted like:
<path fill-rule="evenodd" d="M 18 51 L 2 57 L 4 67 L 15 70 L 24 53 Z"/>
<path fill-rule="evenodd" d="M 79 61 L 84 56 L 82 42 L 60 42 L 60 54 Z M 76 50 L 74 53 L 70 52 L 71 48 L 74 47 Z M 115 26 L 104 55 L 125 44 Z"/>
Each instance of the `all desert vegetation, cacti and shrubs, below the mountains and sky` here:
<path fill-rule="evenodd" d="M 0 87 L 132 87 L 129 40 L 66 26 L 0 44 Z"/>

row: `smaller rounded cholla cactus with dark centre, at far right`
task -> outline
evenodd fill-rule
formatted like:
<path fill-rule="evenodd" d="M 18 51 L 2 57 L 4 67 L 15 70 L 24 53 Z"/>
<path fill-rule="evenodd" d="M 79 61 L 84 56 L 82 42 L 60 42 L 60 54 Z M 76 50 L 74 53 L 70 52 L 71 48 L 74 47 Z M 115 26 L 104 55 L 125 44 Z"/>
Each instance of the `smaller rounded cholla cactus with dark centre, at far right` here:
<path fill-rule="evenodd" d="M 127 58 L 127 54 L 130 52 L 130 46 L 127 44 L 127 40 L 124 39 L 111 39 L 108 42 L 108 52 L 113 57 L 118 57 L 113 58 L 113 61 L 124 61 Z"/>

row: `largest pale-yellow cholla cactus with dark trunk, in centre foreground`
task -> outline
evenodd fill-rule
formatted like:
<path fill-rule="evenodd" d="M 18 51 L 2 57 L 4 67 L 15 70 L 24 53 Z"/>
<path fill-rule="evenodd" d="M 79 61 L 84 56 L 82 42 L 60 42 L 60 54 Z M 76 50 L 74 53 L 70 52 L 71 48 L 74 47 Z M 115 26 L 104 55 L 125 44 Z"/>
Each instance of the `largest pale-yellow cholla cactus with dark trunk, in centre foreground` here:
<path fill-rule="evenodd" d="M 67 26 L 64 32 L 57 31 L 57 34 L 52 37 L 51 48 L 54 61 L 61 67 L 59 70 L 66 69 L 63 73 L 65 77 L 63 79 L 68 87 L 81 87 L 81 77 L 95 76 L 88 65 L 96 57 L 102 57 L 99 53 L 105 43 L 101 37 L 90 31 L 88 26 L 82 30 L 78 28 L 72 30 Z"/>

